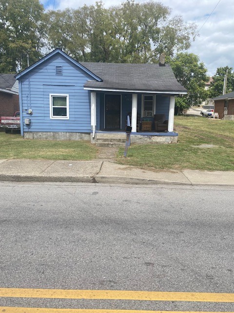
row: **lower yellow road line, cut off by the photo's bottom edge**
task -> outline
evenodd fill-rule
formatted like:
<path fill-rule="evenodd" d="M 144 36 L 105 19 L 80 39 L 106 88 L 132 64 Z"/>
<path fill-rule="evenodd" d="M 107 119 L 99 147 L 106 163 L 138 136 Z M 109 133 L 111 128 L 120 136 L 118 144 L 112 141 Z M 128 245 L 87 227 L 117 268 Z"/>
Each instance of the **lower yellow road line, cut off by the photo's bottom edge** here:
<path fill-rule="evenodd" d="M 136 311 L 136 310 L 99 310 L 99 309 L 46 309 L 0 307 L 0 313 L 233 313 L 233 312 L 191 312 L 191 311 Z"/>

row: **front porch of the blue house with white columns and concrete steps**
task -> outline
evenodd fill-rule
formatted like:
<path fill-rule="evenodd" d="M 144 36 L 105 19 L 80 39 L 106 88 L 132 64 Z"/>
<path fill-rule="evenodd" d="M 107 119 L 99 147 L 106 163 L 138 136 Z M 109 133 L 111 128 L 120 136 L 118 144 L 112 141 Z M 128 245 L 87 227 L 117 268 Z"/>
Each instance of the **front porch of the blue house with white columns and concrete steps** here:
<path fill-rule="evenodd" d="M 108 142 L 109 146 L 124 143 L 128 115 L 132 126 L 131 143 L 177 142 L 178 134 L 174 133 L 174 112 L 174 94 L 92 91 L 91 142 L 97 145 Z M 156 122 L 157 116 L 163 116 L 161 124 Z"/>

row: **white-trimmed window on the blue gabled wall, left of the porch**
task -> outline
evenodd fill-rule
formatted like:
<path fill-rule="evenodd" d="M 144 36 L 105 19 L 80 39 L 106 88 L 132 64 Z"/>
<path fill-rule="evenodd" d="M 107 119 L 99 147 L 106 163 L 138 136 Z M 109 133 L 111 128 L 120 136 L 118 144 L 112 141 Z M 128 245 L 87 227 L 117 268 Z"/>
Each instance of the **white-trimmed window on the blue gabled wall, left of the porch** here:
<path fill-rule="evenodd" d="M 69 119 L 69 95 L 50 93 L 50 118 Z"/>

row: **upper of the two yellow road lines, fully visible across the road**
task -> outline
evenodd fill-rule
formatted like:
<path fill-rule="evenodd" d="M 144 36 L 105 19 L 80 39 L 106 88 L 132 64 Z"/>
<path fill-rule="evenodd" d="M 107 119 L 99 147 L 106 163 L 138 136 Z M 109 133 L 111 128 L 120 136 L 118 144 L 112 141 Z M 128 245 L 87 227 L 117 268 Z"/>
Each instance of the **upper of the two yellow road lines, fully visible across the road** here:
<path fill-rule="evenodd" d="M 234 302 L 234 293 L 0 288 L 0 297 Z"/>

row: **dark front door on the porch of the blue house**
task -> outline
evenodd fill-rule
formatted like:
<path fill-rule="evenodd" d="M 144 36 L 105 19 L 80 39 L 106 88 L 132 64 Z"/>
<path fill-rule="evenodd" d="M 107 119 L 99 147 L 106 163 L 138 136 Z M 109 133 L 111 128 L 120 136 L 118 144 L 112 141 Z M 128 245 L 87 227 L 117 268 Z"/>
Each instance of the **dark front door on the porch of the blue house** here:
<path fill-rule="evenodd" d="M 105 129 L 119 130 L 121 116 L 121 94 L 105 95 Z"/>

